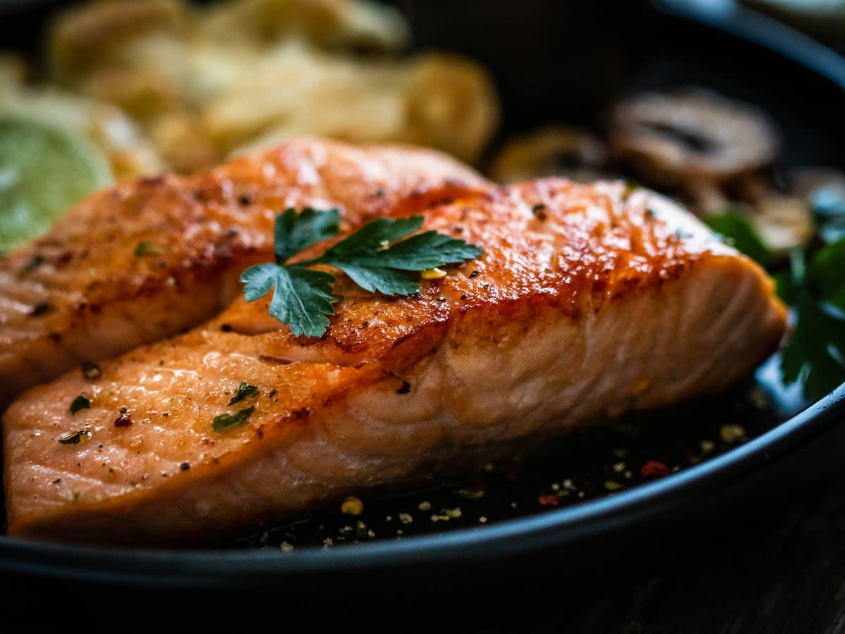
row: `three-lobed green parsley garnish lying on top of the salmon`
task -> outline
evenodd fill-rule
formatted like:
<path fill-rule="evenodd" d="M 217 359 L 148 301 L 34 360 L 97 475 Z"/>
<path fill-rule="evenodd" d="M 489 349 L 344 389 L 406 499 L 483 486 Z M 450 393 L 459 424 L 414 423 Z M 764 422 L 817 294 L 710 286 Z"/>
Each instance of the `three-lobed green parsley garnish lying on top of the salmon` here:
<path fill-rule="evenodd" d="M 290 324 L 295 336 L 321 336 L 329 326 L 326 315 L 335 314 L 332 293 L 335 276 L 309 267 L 329 265 L 340 269 L 359 287 L 384 295 L 411 295 L 419 283 L 408 271 L 472 260 L 482 249 L 436 231 L 417 233 L 422 216 L 390 220 L 379 218 L 336 243 L 313 260 L 290 263 L 302 249 L 339 232 L 340 213 L 307 207 L 297 214 L 287 209 L 275 219 L 275 264 L 249 267 L 243 272 L 243 294 L 248 302 L 264 297 L 275 287 L 270 315 Z M 409 237 L 410 236 L 410 237 Z"/>

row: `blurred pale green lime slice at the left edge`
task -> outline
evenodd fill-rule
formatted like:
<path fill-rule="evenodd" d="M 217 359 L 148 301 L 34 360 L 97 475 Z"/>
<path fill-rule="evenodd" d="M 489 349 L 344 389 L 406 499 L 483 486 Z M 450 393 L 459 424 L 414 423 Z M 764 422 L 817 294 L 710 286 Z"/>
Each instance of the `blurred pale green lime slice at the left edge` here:
<path fill-rule="evenodd" d="M 83 134 L 20 114 L 0 114 L 0 253 L 46 232 L 69 207 L 114 182 Z"/>

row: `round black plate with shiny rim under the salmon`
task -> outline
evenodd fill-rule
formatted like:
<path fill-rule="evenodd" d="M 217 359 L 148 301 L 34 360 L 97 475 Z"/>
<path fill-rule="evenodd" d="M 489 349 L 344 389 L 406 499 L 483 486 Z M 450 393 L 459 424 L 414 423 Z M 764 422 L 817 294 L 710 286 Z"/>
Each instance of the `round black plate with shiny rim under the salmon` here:
<path fill-rule="evenodd" d="M 398 4 L 413 19 L 418 46 L 466 52 L 493 68 L 504 97 L 505 132 L 548 121 L 595 123 L 602 107 L 625 90 L 706 85 L 771 112 L 794 165 L 845 167 L 845 62 L 759 15 L 726 17 L 669 2 L 624 8 L 543 2 L 532 11 L 511 2 L 484 3 L 483 10 L 477 3 Z M 29 14 L 18 24 L 36 29 L 40 19 Z M 9 33 L 11 25 L 5 23 Z M 458 519 L 453 516 L 421 534 L 397 539 L 384 523 L 379 538 L 353 530 L 347 541 L 356 543 L 324 548 L 331 522 L 349 522 L 330 513 L 194 550 L 83 548 L 2 536 L 0 571 L 24 587 L 74 582 L 88 590 L 270 590 L 285 598 L 287 610 L 324 598 L 335 609 L 348 608 L 371 602 L 373 588 L 392 604 L 421 596 L 502 598 L 533 588 L 541 577 L 573 588 L 597 570 L 626 574 L 630 568 L 623 564 L 630 566 L 632 555 L 642 560 L 670 543 L 689 545 L 679 538 L 694 527 L 697 538 L 722 530 L 831 473 L 842 458 L 837 446 L 845 446 L 837 427 L 845 386 L 804 407 L 765 373 L 758 380 L 769 389 L 771 408 L 749 407 L 747 386 L 740 386 L 693 409 L 650 414 L 645 423 L 630 420 L 556 457 L 521 463 L 516 479 L 508 471 L 490 474 L 484 484 L 498 506 L 475 507 L 471 520 L 464 511 L 463 523 L 451 522 Z M 721 425 L 737 422 L 750 440 L 719 445 Z M 690 443 L 710 438 L 717 446 L 701 462 L 694 464 L 701 456 L 687 462 L 678 457 Z M 628 470 L 614 468 L 614 459 L 622 462 L 614 453 L 619 449 L 629 451 L 624 457 L 631 464 L 660 456 L 682 468 L 651 481 L 633 477 L 611 491 L 608 480 L 624 479 Z M 690 458 L 688 451 L 684 455 Z M 559 498 L 559 507 L 538 505 L 537 498 L 554 489 L 537 487 L 560 484 L 567 474 L 579 480 L 572 498 Z M 373 504 L 372 522 L 385 514 L 395 518 L 403 508 L 418 510 L 421 500 L 447 500 L 471 484 L 381 500 Z M 577 498 L 578 490 L 584 498 Z M 515 499 L 515 511 L 502 511 L 511 508 L 503 501 Z M 439 513 L 440 501 L 432 514 Z M 482 511 L 491 517 L 479 525 Z M 293 533 L 313 545 L 283 551 L 279 544 Z"/>

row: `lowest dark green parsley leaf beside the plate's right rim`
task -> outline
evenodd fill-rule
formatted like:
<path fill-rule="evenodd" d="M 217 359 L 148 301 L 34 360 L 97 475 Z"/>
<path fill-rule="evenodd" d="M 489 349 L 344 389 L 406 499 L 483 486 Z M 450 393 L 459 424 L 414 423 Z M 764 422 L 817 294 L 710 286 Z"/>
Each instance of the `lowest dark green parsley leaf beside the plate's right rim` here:
<path fill-rule="evenodd" d="M 804 396 L 817 400 L 845 382 L 845 319 L 802 292 L 796 321 L 782 349 L 785 383 L 800 380 Z"/>

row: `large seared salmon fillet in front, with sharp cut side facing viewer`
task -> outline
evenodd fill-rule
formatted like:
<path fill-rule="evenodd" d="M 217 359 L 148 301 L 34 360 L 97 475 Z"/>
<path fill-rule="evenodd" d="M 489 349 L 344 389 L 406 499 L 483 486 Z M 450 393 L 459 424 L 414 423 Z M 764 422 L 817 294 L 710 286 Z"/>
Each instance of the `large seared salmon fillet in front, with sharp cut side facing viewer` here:
<path fill-rule="evenodd" d="M 208 542 L 721 391 L 782 338 L 765 271 L 646 189 L 548 179 L 421 212 L 484 254 L 417 296 L 341 274 L 319 338 L 237 298 L 98 379 L 27 391 L 3 418 L 8 533 Z M 242 383 L 257 393 L 230 404 Z"/>

